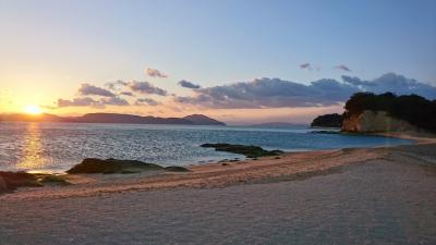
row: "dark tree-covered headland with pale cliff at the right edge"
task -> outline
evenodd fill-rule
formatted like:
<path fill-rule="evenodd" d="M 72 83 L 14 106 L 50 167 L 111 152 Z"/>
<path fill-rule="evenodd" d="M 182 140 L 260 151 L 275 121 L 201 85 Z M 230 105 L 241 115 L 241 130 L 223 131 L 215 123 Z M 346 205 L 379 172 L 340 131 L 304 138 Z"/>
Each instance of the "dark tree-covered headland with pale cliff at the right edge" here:
<path fill-rule="evenodd" d="M 343 115 L 320 115 L 311 125 L 336 125 L 343 132 L 358 133 L 436 132 L 436 100 L 417 95 L 356 93 L 344 109 Z"/>

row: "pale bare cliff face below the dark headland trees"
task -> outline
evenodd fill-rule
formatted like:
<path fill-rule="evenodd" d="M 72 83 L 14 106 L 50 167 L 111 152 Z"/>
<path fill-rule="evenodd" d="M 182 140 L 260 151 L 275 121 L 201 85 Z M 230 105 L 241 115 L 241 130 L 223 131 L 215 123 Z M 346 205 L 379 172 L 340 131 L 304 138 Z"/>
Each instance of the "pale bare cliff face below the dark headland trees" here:
<path fill-rule="evenodd" d="M 386 111 L 365 110 L 343 119 L 342 131 L 372 133 L 419 131 L 419 128 L 403 120 L 389 117 Z"/>

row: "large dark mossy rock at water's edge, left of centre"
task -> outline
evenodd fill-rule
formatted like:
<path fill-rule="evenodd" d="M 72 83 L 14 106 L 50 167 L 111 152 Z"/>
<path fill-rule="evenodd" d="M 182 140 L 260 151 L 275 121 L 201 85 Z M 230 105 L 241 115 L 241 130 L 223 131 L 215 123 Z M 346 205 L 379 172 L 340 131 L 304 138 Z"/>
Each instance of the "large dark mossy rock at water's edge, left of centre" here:
<path fill-rule="evenodd" d="M 66 173 L 123 173 L 125 171 L 164 170 L 164 167 L 136 160 L 86 158 Z"/>

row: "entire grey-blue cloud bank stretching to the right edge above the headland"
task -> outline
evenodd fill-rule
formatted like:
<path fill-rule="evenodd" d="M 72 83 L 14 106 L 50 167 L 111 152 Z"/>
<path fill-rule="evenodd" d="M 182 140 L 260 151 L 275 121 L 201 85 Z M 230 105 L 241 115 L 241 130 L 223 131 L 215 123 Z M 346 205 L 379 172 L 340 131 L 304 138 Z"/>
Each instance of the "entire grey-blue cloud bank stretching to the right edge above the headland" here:
<path fill-rule="evenodd" d="M 371 82 L 343 76 L 343 82 L 318 79 L 308 85 L 279 78 L 259 78 L 199 88 L 194 90 L 193 96 L 173 99 L 179 103 L 217 109 L 324 107 L 344 102 L 352 94 L 363 90 L 436 98 L 436 87 L 389 73 Z"/>

